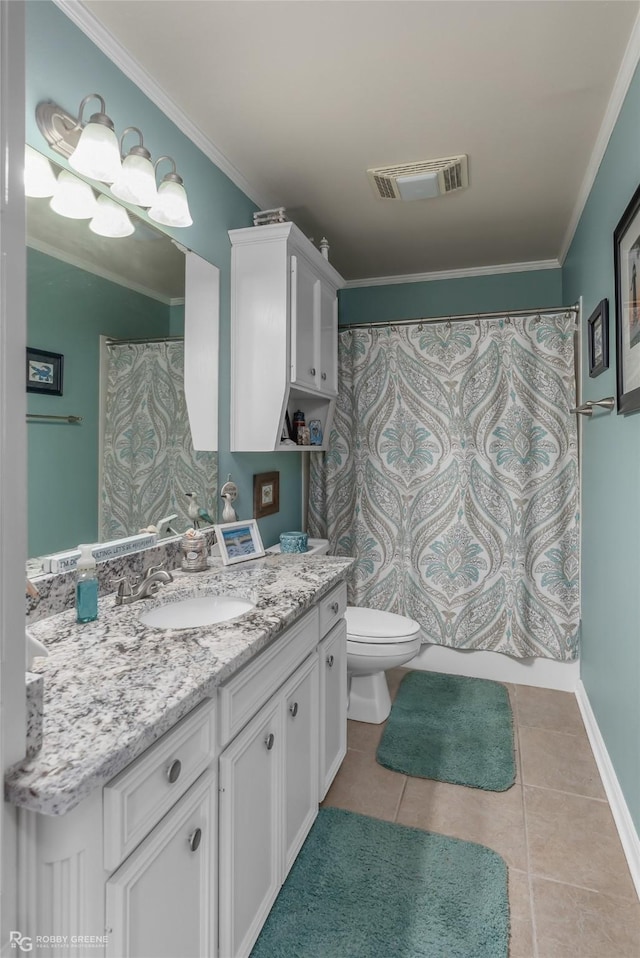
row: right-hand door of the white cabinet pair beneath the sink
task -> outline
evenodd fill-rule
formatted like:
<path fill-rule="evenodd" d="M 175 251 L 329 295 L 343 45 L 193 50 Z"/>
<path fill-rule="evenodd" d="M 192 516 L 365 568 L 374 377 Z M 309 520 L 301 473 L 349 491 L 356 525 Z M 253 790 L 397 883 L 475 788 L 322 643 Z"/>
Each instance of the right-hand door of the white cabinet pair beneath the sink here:
<path fill-rule="evenodd" d="M 285 742 L 284 877 L 318 814 L 318 656 L 282 691 Z"/>

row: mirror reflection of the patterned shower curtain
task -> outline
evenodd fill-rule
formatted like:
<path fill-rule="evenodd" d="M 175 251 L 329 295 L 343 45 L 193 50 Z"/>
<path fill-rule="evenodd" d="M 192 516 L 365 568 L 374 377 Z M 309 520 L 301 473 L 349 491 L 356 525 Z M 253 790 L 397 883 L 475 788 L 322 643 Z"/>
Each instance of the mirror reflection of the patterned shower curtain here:
<path fill-rule="evenodd" d="M 179 340 L 108 343 L 103 411 L 101 539 L 132 535 L 177 513 L 185 492 L 216 514 L 217 453 L 195 452 Z"/>

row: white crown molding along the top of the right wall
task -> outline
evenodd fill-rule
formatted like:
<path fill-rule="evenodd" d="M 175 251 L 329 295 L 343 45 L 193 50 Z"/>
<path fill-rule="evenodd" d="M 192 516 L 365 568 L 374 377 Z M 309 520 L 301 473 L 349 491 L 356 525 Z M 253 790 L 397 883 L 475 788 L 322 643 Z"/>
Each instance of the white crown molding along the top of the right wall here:
<path fill-rule="evenodd" d="M 560 247 L 558 260 L 561 266 L 563 265 L 567 253 L 569 252 L 569 247 L 573 242 L 573 237 L 578 228 L 580 217 L 582 216 L 587 200 L 589 199 L 589 194 L 591 193 L 595 178 L 597 176 L 598 170 L 600 169 L 600 164 L 602 163 L 607 146 L 609 145 L 613 128 L 615 127 L 618 116 L 620 115 L 624 98 L 627 95 L 639 61 L 640 12 L 636 17 L 635 23 L 633 24 L 633 28 L 629 35 L 629 42 L 627 43 L 627 48 L 624 51 L 624 56 L 620 64 L 620 69 L 618 70 L 618 75 L 616 76 L 615 83 L 613 84 L 613 90 L 611 91 L 607 109 L 605 110 L 604 118 L 602 120 L 600 130 L 598 131 L 595 146 L 589 159 L 589 165 L 587 166 L 587 171 L 580 186 L 578 199 L 576 200 L 576 205 L 573 208 L 571 219 L 569 220 L 569 225 Z"/>

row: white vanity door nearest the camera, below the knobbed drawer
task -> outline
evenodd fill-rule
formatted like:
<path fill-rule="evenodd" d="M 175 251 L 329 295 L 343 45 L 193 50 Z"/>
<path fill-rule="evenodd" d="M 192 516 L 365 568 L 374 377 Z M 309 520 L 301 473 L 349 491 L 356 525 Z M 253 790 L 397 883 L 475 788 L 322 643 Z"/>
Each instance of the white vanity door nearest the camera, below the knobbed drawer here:
<path fill-rule="evenodd" d="M 210 770 L 107 881 L 107 958 L 213 958 L 216 835 Z"/>

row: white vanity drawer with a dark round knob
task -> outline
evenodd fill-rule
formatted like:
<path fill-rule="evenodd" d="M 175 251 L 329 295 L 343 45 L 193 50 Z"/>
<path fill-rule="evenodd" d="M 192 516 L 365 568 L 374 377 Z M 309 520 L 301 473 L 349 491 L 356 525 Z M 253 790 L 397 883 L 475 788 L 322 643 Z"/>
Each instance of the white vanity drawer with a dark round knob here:
<path fill-rule="evenodd" d="M 103 790 L 104 866 L 117 868 L 215 757 L 215 699 L 207 699 Z"/>

